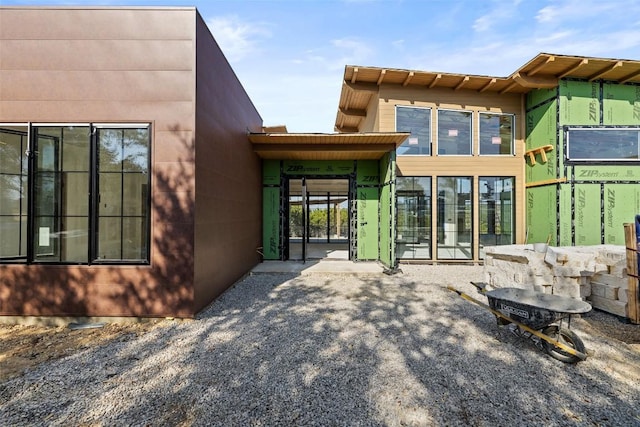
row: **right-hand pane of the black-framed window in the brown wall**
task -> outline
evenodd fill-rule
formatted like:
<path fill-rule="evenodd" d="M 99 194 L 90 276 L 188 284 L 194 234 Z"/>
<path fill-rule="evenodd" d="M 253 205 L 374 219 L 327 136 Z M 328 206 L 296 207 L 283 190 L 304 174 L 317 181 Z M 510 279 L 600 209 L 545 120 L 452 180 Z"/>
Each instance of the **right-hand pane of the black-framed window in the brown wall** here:
<path fill-rule="evenodd" d="M 98 129 L 98 260 L 148 257 L 149 129 Z"/>

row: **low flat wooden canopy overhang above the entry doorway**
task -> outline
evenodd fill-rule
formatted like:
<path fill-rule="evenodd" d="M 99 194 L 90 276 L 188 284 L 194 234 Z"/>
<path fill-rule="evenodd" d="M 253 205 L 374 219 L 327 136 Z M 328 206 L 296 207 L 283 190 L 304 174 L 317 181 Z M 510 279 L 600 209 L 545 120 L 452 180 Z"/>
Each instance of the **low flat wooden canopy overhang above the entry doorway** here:
<path fill-rule="evenodd" d="M 263 159 L 371 160 L 395 150 L 409 136 L 387 133 L 250 133 L 253 151 Z"/>

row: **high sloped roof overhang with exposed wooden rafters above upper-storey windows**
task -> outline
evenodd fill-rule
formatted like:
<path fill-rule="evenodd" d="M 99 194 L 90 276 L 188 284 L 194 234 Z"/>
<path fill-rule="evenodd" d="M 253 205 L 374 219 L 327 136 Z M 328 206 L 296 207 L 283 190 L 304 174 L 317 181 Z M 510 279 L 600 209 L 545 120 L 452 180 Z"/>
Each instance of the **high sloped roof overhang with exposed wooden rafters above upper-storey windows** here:
<path fill-rule="evenodd" d="M 640 61 L 540 53 L 508 77 L 347 65 L 335 129 L 338 132 L 358 132 L 367 115 L 371 97 L 382 85 L 524 94 L 533 89 L 554 88 L 564 77 L 640 83 Z"/>

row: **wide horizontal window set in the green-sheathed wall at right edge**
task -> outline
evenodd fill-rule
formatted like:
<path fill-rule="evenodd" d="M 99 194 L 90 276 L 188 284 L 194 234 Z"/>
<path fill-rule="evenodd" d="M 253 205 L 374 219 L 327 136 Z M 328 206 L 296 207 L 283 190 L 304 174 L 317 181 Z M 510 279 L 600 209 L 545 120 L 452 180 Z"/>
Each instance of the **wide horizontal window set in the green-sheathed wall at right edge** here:
<path fill-rule="evenodd" d="M 568 128 L 570 161 L 639 161 L 640 128 Z"/>

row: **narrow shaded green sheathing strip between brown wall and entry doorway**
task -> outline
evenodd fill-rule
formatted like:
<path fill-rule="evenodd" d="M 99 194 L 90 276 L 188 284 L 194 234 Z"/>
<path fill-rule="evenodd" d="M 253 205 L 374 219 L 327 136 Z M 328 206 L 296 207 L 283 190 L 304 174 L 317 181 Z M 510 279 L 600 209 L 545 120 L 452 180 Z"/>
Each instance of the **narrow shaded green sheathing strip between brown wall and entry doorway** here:
<path fill-rule="evenodd" d="M 280 161 L 262 161 L 262 254 L 280 259 Z"/>

